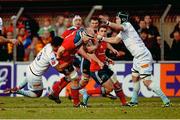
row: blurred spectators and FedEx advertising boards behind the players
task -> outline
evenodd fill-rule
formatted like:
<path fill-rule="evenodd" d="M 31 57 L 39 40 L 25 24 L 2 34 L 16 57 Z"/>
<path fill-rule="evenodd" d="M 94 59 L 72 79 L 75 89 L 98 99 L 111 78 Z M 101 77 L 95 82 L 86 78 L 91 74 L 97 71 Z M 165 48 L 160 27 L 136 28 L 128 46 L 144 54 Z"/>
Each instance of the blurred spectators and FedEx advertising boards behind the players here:
<path fill-rule="evenodd" d="M 127 11 L 132 23 L 152 53 L 153 76 L 167 96 L 180 96 L 180 0 L 0 0 L 0 96 L 26 77 L 26 67 L 54 36 L 66 37 L 79 27 L 95 32 L 101 24 L 99 16 L 116 22 L 118 11 Z M 118 33 L 108 28 L 107 37 Z M 2 40 L 11 42 L 2 42 Z M 14 44 L 15 43 L 15 44 Z M 123 83 L 125 95 L 132 95 L 131 67 L 133 57 L 123 43 L 113 45 L 120 56 L 107 50 L 115 60 L 114 70 Z M 49 88 L 62 77 L 50 68 L 43 76 Z M 96 88 L 91 80 L 89 89 Z M 143 92 L 145 91 L 145 92 Z M 47 93 L 46 93 L 47 92 Z M 156 96 L 142 86 L 142 96 Z M 61 96 L 68 96 L 68 87 Z"/>

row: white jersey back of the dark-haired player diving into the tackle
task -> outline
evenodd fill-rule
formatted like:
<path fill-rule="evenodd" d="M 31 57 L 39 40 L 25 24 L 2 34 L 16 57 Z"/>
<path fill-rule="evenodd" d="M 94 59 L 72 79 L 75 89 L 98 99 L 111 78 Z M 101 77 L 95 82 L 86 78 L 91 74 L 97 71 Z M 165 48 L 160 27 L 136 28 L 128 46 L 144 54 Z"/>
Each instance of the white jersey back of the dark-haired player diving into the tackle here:
<path fill-rule="evenodd" d="M 32 72 L 36 75 L 42 75 L 50 66 L 50 55 L 53 52 L 51 44 L 47 44 L 30 64 Z"/>

